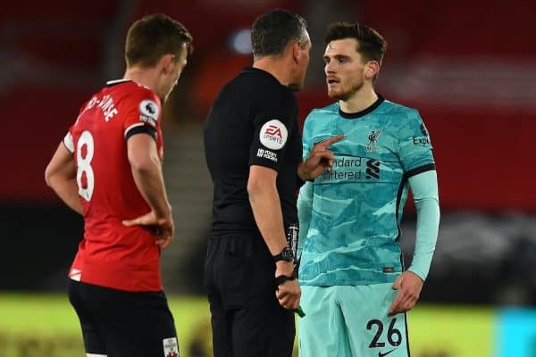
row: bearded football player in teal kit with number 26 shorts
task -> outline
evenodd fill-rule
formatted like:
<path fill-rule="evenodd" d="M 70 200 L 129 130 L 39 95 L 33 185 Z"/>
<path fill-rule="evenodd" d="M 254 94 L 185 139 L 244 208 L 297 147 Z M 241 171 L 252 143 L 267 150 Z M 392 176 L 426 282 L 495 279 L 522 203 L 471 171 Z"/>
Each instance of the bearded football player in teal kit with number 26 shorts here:
<path fill-rule="evenodd" d="M 311 112 L 304 157 L 337 134 L 332 170 L 301 187 L 298 198 L 300 357 L 409 355 L 406 311 L 430 270 L 440 221 L 431 141 L 419 112 L 384 99 L 374 81 L 387 46 L 374 29 L 331 24 L 323 56 L 328 95 Z M 415 252 L 406 269 L 400 220 L 411 188 Z M 299 254 L 299 253 L 298 253 Z"/>

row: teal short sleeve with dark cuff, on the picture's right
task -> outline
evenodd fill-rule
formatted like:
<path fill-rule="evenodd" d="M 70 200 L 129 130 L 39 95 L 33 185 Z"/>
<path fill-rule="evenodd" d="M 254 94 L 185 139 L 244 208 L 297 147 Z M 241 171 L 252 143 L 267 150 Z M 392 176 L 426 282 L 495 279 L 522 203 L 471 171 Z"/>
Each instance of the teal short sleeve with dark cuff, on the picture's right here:
<path fill-rule="evenodd" d="M 434 170 L 431 140 L 423 120 L 416 110 L 410 110 L 406 126 L 399 130 L 398 155 L 406 175 Z"/>

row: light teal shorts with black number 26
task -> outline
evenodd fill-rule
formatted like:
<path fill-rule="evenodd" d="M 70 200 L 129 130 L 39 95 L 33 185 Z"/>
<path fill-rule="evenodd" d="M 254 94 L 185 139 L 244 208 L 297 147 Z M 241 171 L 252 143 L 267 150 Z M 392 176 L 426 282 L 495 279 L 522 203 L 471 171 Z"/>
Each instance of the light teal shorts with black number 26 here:
<path fill-rule="evenodd" d="M 408 357 L 406 313 L 387 316 L 391 286 L 301 286 L 299 357 Z"/>

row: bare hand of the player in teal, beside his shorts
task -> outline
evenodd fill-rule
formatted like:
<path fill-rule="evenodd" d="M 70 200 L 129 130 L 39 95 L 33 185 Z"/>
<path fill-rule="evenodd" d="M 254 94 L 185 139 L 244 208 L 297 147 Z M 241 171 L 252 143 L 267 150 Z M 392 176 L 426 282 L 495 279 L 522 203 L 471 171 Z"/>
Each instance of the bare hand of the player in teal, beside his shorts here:
<path fill-rule="evenodd" d="M 423 279 L 412 271 L 404 271 L 393 283 L 392 288 L 398 290 L 395 301 L 389 307 L 388 316 L 410 311 L 419 300 L 423 289 Z"/>

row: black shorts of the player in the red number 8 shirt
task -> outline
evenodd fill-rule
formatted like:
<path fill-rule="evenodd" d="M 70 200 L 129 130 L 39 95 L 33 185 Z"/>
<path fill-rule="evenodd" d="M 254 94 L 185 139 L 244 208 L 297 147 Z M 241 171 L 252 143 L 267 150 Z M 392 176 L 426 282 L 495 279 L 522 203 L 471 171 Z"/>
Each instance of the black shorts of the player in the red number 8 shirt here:
<path fill-rule="evenodd" d="M 179 356 L 177 331 L 160 292 L 132 293 L 70 280 L 86 353 L 108 357 Z"/>

